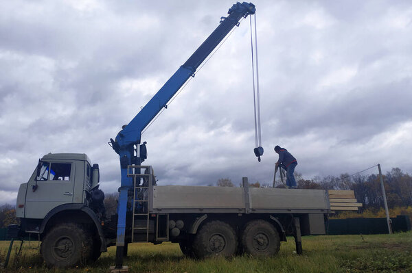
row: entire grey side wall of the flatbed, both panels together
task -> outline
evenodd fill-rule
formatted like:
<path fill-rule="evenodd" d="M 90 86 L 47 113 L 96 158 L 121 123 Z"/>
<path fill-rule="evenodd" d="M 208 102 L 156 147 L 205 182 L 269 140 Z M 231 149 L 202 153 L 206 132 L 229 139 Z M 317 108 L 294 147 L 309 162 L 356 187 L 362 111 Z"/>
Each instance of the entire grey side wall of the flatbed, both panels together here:
<path fill-rule="evenodd" d="M 150 213 L 328 213 L 325 190 L 153 186 Z"/>

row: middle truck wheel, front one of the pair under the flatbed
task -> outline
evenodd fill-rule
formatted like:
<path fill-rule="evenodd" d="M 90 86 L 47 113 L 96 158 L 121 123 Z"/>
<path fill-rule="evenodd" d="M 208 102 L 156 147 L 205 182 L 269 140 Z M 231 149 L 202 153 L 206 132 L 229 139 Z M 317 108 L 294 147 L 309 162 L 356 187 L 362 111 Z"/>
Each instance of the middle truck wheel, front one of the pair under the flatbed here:
<path fill-rule="evenodd" d="M 202 226 L 194 238 L 194 255 L 198 259 L 220 256 L 231 257 L 235 254 L 238 239 L 229 224 L 211 221 Z"/>

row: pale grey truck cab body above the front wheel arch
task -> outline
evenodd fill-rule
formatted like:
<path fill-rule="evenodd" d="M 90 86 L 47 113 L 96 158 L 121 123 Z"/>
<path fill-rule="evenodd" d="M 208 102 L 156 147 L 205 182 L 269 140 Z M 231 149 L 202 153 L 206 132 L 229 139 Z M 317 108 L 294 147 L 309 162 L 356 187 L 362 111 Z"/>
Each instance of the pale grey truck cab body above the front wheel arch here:
<path fill-rule="evenodd" d="M 98 182 L 98 164 L 92 167 L 87 155 L 49 153 L 39 159 L 29 181 L 20 185 L 16 216 L 44 219 L 61 205 L 86 203 Z"/>

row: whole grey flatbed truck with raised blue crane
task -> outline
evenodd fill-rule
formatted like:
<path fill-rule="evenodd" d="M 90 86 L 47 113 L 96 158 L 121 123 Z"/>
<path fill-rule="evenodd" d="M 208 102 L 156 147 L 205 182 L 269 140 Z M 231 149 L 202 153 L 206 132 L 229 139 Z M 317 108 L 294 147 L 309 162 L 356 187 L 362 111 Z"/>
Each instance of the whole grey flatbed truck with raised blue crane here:
<path fill-rule="evenodd" d="M 324 190 L 157 185 L 141 132 L 176 94 L 198 66 L 241 18 L 255 13 L 252 3 L 236 3 L 229 16 L 170 77 L 143 109 L 111 139 L 119 155 L 121 185 L 117 213 L 106 215 L 99 189 L 98 164 L 81 153 L 49 153 L 20 185 L 16 199 L 19 226 L 10 234 L 38 236 L 41 255 L 54 267 L 95 261 L 116 246 L 116 268 L 122 268 L 133 242 L 179 243 L 184 255 L 205 258 L 236 253 L 275 255 L 286 235 L 324 234 L 330 212 Z M 256 152 L 256 150 L 258 150 Z M 263 148 L 255 148 L 257 156 Z"/>

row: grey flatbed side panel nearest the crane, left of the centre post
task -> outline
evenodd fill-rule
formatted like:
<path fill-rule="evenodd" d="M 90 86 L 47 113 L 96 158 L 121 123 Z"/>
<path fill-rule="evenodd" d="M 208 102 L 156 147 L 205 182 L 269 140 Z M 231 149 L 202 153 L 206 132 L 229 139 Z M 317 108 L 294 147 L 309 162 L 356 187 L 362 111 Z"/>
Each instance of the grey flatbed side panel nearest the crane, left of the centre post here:
<path fill-rule="evenodd" d="M 241 187 L 154 186 L 153 209 L 244 209 Z"/>

